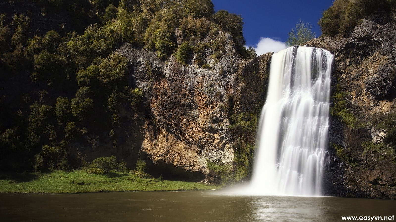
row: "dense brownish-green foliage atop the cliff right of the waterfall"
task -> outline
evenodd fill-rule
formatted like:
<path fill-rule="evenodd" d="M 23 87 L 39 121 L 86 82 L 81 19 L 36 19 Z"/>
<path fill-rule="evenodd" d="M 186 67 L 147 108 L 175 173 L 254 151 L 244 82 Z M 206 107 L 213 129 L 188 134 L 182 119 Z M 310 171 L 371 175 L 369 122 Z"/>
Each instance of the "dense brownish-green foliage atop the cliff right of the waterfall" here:
<path fill-rule="evenodd" d="M 396 11 L 395 0 L 335 0 L 319 20 L 322 36 L 348 36 L 360 20 L 373 12 L 391 19 Z"/>

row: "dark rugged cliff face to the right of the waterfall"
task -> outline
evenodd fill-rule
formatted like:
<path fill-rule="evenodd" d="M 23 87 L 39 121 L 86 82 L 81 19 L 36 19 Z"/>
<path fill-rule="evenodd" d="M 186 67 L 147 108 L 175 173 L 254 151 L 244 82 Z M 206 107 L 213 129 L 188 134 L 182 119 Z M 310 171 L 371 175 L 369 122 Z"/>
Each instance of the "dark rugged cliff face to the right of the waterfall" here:
<path fill-rule="evenodd" d="M 379 127 L 396 110 L 396 24 L 373 15 L 348 38 L 318 38 L 307 45 L 334 53 L 333 110 L 343 106 L 344 112 L 331 118 L 327 191 L 396 199 L 395 151 L 383 144 L 387 130 Z"/>

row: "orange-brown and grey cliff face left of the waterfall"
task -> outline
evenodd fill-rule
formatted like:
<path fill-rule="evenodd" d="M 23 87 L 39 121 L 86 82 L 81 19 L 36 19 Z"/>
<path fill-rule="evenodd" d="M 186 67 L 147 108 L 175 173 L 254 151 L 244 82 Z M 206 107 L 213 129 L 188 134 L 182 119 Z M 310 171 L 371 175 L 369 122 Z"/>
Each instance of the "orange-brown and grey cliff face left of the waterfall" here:
<path fill-rule="evenodd" d="M 254 143 L 254 134 L 237 135 L 230 116 L 261 109 L 271 55 L 243 60 L 229 34 L 219 35 L 226 37 L 226 53 L 216 63 L 209 49 L 205 51 L 210 70 L 179 64 L 174 56 L 162 61 L 156 53 L 130 45 L 118 50 L 129 59 L 131 78 L 145 96 L 146 114 L 139 129 L 143 137 L 133 147 L 152 161 L 156 172 L 211 181 L 207 161 L 232 168 L 236 139 Z"/>

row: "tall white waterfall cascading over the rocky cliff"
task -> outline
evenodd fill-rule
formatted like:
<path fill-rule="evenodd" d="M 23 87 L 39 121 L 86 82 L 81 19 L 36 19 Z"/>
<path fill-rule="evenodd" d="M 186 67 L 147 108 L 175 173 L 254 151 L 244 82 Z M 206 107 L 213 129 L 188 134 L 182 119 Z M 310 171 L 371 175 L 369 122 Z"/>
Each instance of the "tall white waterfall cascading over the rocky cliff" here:
<path fill-rule="evenodd" d="M 329 51 L 312 47 L 272 56 L 250 194 L 322 195 L 332 63 Z"/>

